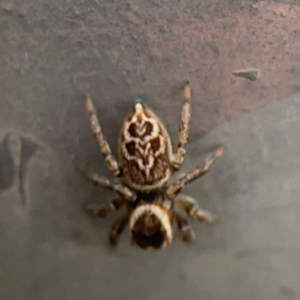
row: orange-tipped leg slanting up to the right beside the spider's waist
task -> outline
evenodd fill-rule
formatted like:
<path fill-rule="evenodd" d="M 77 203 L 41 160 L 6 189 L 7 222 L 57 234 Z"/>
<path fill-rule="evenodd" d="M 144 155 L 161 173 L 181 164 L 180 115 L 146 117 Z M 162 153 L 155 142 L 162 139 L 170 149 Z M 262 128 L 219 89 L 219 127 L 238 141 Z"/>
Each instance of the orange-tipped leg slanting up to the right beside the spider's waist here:
<path fill-rule="evenodd" d="M 220 147 L 215 152 L 213 152 L 211 155 L 209 155 L 203 164 L 196 167 L 194 170 L 190 171 L 187 174 L 184 174 L 182 176 L 179 176 L 178 180 L 173 182 L 169 185 L 167 188 L 166 194 L 169 198 L 174 197 L 177 195 L 185 185 L 191 183 L 195 179 L 199 178 L 200 176 L 203 176 L 211 167 L 213 162 L 218 158 L 221 157 L 224 153 L 224 148 Z"/>

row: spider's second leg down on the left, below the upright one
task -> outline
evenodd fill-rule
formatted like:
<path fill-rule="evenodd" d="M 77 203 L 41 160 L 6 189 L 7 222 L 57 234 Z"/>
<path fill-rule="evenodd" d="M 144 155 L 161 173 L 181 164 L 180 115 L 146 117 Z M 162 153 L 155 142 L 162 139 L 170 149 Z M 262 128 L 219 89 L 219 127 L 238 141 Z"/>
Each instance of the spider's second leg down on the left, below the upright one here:
<path fill-rule="evenodd" d="M 81 168 L 77 168 L 77 171 L 81 175 L 89 179 L 93 184 L 114 191 L 127 201 L 134 201 L 136 198 L 136 194 L 128 187 L 123 185 L 121 182 L 111 182 L 109 179 L 105 177 L 99 177 L 97 174 L 88 174 L 85 170 Z"/>

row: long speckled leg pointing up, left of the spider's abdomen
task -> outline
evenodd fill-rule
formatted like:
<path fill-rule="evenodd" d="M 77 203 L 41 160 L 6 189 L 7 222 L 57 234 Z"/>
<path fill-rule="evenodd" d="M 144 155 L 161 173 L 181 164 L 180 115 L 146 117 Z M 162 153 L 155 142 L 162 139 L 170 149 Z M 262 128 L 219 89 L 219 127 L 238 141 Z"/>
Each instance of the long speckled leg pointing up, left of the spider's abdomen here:
<path fill-rule="evenodd" d="M 99 145 L 100 151 L 104 156 L 105 163 L 107 168 L 114 176 L 118 176 L 121 174 L 121 168 L 116 160 L 116 158 L 112 155 L 109 144 L 101 130 L 101 126 L 99 124 L 96 109 L 94 107 L 93 101 L 90 97 L 86 99 L 86 110 L 90 115 L 90 123 L 91 129 L 95 136 L 95 139 Z"/>

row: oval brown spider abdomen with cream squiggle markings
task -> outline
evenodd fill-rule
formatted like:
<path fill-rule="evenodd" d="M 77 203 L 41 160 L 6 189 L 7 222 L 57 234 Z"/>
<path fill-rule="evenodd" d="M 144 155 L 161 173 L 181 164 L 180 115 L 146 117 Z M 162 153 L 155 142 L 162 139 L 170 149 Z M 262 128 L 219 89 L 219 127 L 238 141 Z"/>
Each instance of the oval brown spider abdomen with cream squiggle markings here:
<path fill-rule="evenodd" d="M 124 122 L 119 155 L 124 177 L 136 190 L 159 188 L 171 175 L 170 137 L 157 116 L 140 103 Z"/>

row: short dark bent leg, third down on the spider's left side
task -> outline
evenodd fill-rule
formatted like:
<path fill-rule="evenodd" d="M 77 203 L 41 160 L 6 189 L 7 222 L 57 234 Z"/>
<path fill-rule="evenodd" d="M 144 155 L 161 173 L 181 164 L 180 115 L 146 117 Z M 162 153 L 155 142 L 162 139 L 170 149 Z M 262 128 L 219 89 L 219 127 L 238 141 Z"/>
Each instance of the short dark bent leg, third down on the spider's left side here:
<path fill-rule="evenodd" d="M 118 211 L 127 200 L 125 198 L 114 198 L 107 204 L 87 203 L 84 205 L 84 210 L 94 218 L 104 218 L 107 215 Z"/>

